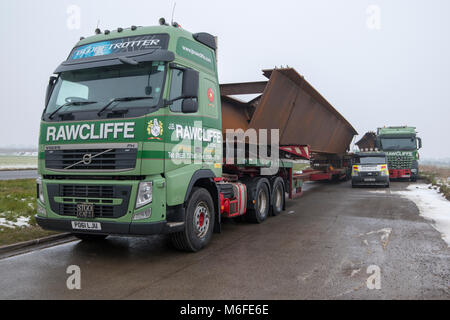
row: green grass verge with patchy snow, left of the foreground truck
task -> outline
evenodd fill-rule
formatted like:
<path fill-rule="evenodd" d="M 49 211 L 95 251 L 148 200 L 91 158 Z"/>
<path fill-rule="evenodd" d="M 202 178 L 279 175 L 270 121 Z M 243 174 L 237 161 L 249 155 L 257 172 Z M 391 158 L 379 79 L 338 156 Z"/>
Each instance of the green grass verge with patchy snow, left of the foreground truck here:
<path fill-rule="evenodd" d="M 57 232 L 41 229 L 36 214 L 36 180 L 0 181 L 0 246 Z"/>

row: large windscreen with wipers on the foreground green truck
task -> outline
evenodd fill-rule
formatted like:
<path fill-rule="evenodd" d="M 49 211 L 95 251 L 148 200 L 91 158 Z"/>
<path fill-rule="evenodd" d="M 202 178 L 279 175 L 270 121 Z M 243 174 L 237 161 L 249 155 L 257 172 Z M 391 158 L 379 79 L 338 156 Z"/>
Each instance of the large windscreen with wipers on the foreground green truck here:
<path fill-rule="evenodd" d="M 164 74 L 163 62 L 63 72 L 55 84 L 45 113 L 50 114 L 70 102 L 92 103 L 68 105 L 61 111 L 97 110 L 111 99 L 123 97 L 149 99 L 115 102 L 111 109 L 117 106 L 121 109 L 156 106 L 162 95 Z"/>

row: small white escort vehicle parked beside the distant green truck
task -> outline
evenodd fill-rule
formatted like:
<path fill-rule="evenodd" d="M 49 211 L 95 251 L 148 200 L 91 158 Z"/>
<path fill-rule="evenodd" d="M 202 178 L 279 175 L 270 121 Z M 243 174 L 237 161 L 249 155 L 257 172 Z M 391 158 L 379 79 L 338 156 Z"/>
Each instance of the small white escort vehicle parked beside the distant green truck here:
<path fill-rule="evenodd" d="M 352 163 L 352 187 L 360 185 L 389 187 L 388 161 L 385 153 L 357 152 Z"/>

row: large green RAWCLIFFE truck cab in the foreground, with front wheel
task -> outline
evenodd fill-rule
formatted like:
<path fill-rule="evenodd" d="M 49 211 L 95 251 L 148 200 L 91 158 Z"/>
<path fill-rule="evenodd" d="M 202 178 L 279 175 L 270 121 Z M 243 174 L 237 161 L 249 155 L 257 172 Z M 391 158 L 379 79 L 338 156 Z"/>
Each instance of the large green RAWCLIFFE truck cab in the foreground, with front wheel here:
<path fill-rule="evenodd" d="M 205 246 L 220 219 L 215 50 L 212 35 L 164 21 L 81 39 L 47 88 L 37 223 L 88 240 L 172 233 L 181 249 Z"/>

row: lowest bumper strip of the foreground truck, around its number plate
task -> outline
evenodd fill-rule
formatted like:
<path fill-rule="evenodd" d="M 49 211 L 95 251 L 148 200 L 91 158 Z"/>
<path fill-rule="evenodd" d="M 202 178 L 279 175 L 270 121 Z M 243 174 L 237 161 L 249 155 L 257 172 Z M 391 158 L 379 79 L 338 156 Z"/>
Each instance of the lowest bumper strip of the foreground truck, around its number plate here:
<path fill-rule="evenodd" d="M 144 236 L 177 232 L 183 227 L 171 227 L 166 221 L 148 223 L 98 221 L 101 224 L 102 230 L 74 230 L 72 229 L 71 219 L 45 218 L 38 215 L 35 215 L 35 218 L 37 224 L 43 229 L 85 234 Z M 75 221 L 77 219 L 73 220 Z"/>

